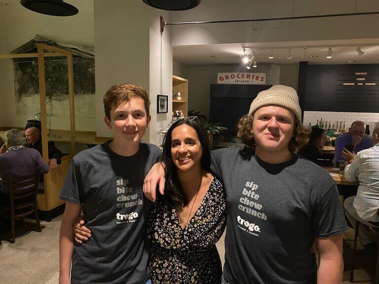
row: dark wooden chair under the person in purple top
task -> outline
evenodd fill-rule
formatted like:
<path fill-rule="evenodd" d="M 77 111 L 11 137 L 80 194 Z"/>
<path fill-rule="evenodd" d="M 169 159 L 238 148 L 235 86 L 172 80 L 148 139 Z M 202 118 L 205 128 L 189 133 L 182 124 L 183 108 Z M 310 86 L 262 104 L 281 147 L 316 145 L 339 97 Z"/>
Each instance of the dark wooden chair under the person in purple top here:
<path fill-rule="evenodd" d="M 9 195 L 10 204 L 0 206 L 0 212 L 11 212 L 12 239 L 14 244 L 15 236 L 15 219 L 20 217 L 21 222 L 24 216 L 34 213 L 38 226 L 38 232 L 42 231 L 37 212 L 37 191 L 38 191 L 39 174 L 22 178 L 9 178 Z"/>

